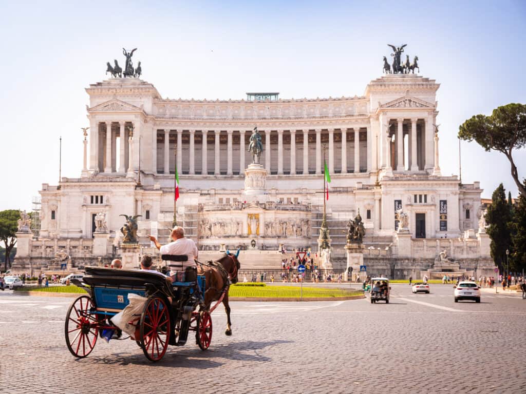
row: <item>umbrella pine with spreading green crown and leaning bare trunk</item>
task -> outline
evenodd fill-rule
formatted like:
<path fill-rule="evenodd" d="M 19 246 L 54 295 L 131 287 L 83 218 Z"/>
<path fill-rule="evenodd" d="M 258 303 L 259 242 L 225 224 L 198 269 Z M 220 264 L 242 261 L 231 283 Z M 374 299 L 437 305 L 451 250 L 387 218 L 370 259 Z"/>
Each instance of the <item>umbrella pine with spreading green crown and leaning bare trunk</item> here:
<path fill-rule="evenodd" d="M 490 116 L 475 115 L 459 127 L 458 135 L 465 141 L 477 141 L 486 151 L 503 153 L 510 161 L 515 184 L 526 194 L 512 157 L 513 149 L 521 149 L 526 144 L 526 105 L 511 103 L 495 108 Z"/>

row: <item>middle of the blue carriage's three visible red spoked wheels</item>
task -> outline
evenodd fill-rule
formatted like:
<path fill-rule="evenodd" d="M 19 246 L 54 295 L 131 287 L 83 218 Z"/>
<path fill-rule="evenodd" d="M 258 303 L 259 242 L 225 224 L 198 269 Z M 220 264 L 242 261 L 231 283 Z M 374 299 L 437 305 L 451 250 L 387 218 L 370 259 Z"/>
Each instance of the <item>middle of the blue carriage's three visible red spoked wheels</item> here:
<path fill-rule="evenodd" d="M 168 348 L 170 313 L 165 300 L 149 298 L 140 317 L 140 346 L 150 361 L 159 361 Z"/>

